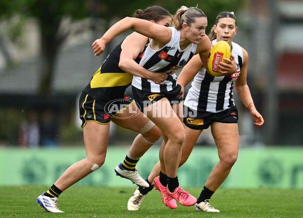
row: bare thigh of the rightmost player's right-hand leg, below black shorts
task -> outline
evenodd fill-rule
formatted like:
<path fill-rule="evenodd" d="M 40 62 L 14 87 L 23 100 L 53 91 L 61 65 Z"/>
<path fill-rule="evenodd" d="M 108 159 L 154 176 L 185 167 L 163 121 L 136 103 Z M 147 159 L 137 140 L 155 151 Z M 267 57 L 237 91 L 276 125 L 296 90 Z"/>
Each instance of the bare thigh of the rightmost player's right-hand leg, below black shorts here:
<path fill-rule="evenodd" d="M 213 122 L 211 129 L 219 156 L 224 154 L 238 154 L 239 130 L 237 123 Z"/>

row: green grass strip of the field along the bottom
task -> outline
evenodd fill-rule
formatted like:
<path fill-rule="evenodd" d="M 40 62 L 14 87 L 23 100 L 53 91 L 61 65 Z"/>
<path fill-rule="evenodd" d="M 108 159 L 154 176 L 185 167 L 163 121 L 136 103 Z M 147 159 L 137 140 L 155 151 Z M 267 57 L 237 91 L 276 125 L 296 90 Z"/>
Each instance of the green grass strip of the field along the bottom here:
<path fill-rule="evenodd" d="M 0 217 L 303 217 L 302 189 L 224 189 L 213 195 L 211 204 L 220 213 L 196 212 L 178 204 L 170 209 L 161 194 L 151 191 L 138 211 L 128 211 L 127 201 L 135 190 L 121 187 L 73 186 L 59 197 L 65 213 L 47 213 L 35 202 L 46 186 L 0 186 Z M 186 188 L 198 196 L 201 188 Z"/>

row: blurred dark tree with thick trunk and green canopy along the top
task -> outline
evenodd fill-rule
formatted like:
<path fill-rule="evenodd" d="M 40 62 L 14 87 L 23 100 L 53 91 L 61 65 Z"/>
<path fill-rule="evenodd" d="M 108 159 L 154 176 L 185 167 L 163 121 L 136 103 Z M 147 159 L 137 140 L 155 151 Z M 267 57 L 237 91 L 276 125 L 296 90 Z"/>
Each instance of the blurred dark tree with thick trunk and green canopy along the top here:
<path fill-rule="evenodd" d="M 187 7 L 196 7 L 203 10 L 208 16 L 209 28 L 215 23 L 215 18 L 221 11 L 236 11 L 241 7 L 242 0 L 115 0 L 115 1 L 99 1 L 99 0 L 15 0 L 0 1 L 0 19 L 7 20 L 12 17 L 18 18 L 14 27 L 10 28 L 11 37 L 20 35 L 23 31 L 23 23 L 27 18 L 34 18 L 38 21 L 40 29 L 40 84 L 37 95 L 44 100 L 52 100 L 52 82 L 54 67 L 56 66 L 56 58 L 58 52 L 69 36 L 79 31 L 86 31 L 89 27 L 73 28 L 73 21 L 92 17 L 91 28 L 96 28 L 99 19 L 103 21 L 105 30 L 111 25 L 111 21 L 115 18 L 121 19 L 126 16 L 132 16 L 136 9 L 145 9 L 148 6 L 159 5 L 166 8 L 172 14 L 176 10 L 185 5 Z M 0 48 L 6 61 L 11 61 L 10 52 L 7 50 L 2 37 L 0 37 Z M 110 49 L 111 46 L 108 46 Z"/>

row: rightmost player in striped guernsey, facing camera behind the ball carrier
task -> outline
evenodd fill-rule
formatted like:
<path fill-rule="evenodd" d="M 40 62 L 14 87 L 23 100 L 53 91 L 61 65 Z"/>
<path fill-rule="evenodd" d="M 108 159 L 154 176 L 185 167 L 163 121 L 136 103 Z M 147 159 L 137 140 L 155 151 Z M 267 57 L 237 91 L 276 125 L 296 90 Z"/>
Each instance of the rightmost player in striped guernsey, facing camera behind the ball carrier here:
<path fill-rule="evenodd" d="M 232 42 L 236 33 L 236 17 L 231 12 L 222 12 L 217 16 L 216 25 L 213 26 L 209 35 L 212 45 L 221 40 L 225 40 L 230 45 L 232 57 L 238 67 L 235 73 L 214 77 L 207 72 L 204 66 L 204 63 L 207 65 L 207 62 L 201 62 L 198 56 L 194 56 L 178 77 L 182 90 L 193 79 L 184 101 L 184 112 L 187 113 L 184 113 L 183 118 L 185 141 L 182 145 L 180 166 L 189 157 L 201 132 L 209 127 L 211 127 L 220 158 L 195 203 L 196 211 L 219 212 L 210 205 L 209 200 L 227 178 L 238 157 L 238 111 L 233 98 L 233 87 L 250 112 L 252 119 L 255 120 L 254 124 L 261 126 L 264 123 L 262 116 L 256 110 L 246 83 L 248 54 L 244 48 Z M 148 180 L 152 180 L 159 174 L 159 165 L 157 163 L 148 176 Z M 149 189 L 142 187 L 138 189 L 141 191 L 136 197 L 143 199 Z M 133 205 L 132 208 L 137 210 L 142 200 L 139 203 L 134 200 L 135 195 L 128 202 Z"/>

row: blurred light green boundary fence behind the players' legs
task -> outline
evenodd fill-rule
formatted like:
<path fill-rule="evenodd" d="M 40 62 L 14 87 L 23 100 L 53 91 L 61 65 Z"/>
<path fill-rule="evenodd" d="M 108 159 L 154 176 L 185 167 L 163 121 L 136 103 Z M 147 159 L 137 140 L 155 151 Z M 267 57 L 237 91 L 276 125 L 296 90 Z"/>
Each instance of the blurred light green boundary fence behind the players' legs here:
<path fill-rule="evenodd" d="M 128 147 L 110 146 L 104 166 L 76 185 L 132 186 L 115 176 L 114 168 L 124 160 Z M 151 148 L 138 162 L 145 179 L 158 161 L 159 148 Z M 51 155 L 51 156 L 50 156 Z M 243 147 L 230 175 L 221 187 L 303 188 L 302 147 Z M 51 186 L 74 162 L 85 158 L 84 148 L 0 148 L 0 185 Z M 194 147 L 188 161 L 179 169 L 182 186 L 203 187 L 219 160 L 216 147 Z"/>

